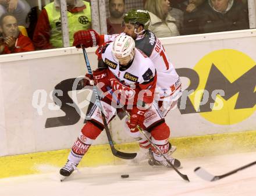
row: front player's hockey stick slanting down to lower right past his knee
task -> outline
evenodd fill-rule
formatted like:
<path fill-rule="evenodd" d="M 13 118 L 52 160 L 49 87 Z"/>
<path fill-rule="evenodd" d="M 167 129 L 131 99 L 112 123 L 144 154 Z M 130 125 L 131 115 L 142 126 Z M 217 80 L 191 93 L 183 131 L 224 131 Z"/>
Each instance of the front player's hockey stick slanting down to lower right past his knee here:
<path fill-rule="evenodd" d="M 126 111 L 126 109 L 120 104 L 120 101 L 118 100 L 118 98 L 115 96 L 115 94 L 113 94 L 113 91 L 110 87 L 106 87 L 108 92 L 111 93 L 112 97 L 116 100 L 116 102 L 119 104 L 119 106 L 123 109 L 123 111 L 126 113 L 126 115 L 130 118 L 130 114 L 129 112 Z M 169 161 L 168 158 L 166 158 L 166 156 L 162 153 L 162 151 L 157 147 L 157 145 L 155 145 L 152 140 L 147 136 L 147 133 L 145 133 L 145 131 L 143 129 L 141 129 L 140 126 L 137 125 L 137 129 L 145 136 L 145 138 L 147 138 L 147 140 L 150 142 L 150 144 L 157 149 L 157 151 L 163 156 L 163 158 L 165 158 L 165 160 L 169 163 L 169 165 L 172 167 L 172 169 L 175 170 L 175 172 L 177 172 L 179 174 L 180 177 L 183 178 L 183 180 L 187 180 L 189 181 L 189 177 L 187 177 L 187 175 L 180 173 L 179 170 L 177 170 L 175 168 L 175 166 L 173 166 L 173 164 Z"/>

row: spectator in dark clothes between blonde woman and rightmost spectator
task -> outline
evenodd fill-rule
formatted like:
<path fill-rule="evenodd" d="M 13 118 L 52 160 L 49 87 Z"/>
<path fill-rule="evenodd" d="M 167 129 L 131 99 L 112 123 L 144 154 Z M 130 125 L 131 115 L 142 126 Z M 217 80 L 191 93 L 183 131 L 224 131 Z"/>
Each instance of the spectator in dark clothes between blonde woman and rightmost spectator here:
<path fill-rule="evenodd" d="M 189 0 L 189 4 L 184 11 L 184 35 L 201 33 L 200 20 L 202 19 L 202 11 L 206 3 L 207 1 L 205 0 Z"/>

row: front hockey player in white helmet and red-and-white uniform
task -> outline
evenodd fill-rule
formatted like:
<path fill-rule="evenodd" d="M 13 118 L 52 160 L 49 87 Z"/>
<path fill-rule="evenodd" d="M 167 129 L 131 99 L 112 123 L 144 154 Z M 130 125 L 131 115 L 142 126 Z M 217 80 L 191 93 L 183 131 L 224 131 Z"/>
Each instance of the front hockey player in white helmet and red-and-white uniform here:
<path fill-rule="evenodd" d="M 144 137 L 141 137 L 137 125 L 147 130 L 151 124 L 151 118 L 148 116 L 159 112 L 158 106 L 154 104 L 154 92 L 157 84 L 157 72 L 154 63 L 143 52 L 135 48 L 133 38 L 128 35 L 119 35 L 115 42 L 102 45 L 97 49 L 97 55 L 105 67 L 95 70 L 93 77 L 94 83 L 98 84 L 98 87 L 106 95 L 101 99 L 106 122 L 109 123 L 116 115 L 116 104 L 113 104 L 116 100 L 112 98 L 112 94 L 107 92 L 109 86 L 115 93 L 115 97 L 119 97 L 120 104 L 130 113 L 127 126 L 131 136 L 138 142 L 148 142 Z M 66 165 L 60 170 L 62 178 L 70 176 L 90 145 L 104 129 L 101 113 L 96 104 L 88 114 L 90 120 L 84 124 L 70 151 Z M 160 115 L 158 115 L 158 119 L 161 119 Z M 173 165 L 179 167 L 180 162 L 168 154 L 169 134 L 169 127 L 165 122 L 159 121 L 154 127 L 151 127 L 152 142 L 161 149 Z M 153 155 L 159 163 L 168 165 L 157 149 L 153 149 Z"/>

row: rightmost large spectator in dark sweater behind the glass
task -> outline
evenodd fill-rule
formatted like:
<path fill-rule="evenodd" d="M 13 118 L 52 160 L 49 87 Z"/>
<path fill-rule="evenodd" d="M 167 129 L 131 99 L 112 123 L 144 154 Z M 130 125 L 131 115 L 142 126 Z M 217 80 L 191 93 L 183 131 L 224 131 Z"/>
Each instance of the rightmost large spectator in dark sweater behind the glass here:
<path fill-rule="evenodd" d="M 201 13 L 200 28 L 202 33 L 249 28 L 247 9 L 236 0 L 208 0 Z"/>

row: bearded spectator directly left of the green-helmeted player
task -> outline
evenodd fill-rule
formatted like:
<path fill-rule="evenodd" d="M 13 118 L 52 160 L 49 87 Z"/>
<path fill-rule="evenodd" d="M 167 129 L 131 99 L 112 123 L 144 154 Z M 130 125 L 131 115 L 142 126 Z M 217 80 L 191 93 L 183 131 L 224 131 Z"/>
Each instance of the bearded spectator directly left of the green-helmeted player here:
<path fill-rule="evenodd" d="M 125 30 L 125 26 L 122 26 L 125 0 L 109 0 L 109 13 L 110 17 L 106 19 L 108 34 L 122 33 Z"/>

